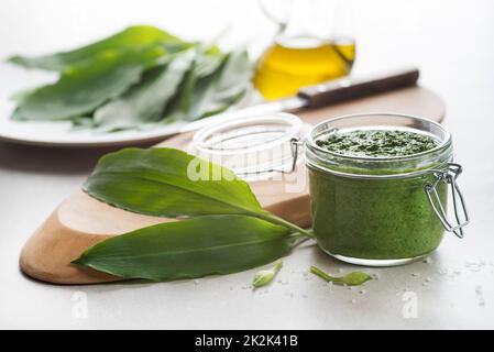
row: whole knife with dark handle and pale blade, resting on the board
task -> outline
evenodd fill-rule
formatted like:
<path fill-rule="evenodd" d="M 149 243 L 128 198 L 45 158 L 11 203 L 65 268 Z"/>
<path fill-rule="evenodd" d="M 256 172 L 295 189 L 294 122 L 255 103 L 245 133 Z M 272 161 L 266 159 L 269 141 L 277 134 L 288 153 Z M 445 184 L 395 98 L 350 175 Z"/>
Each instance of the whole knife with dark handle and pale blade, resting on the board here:
<path fill-rule="evenodd" d="M 180 133 L 195 131 L 206 125 L 235 119 L 294 112 L 301 109 L 315 109 L 331 106 L 351 99 L 358 99 L 398 88 L 415 86 L 419 77 L 417 68 L 403 68 L 367 77 L 344 77 L 301 88 L 296 96 L 260 103 L 240 110 L 222 112 L 205 118 L 182 128 Z"/>

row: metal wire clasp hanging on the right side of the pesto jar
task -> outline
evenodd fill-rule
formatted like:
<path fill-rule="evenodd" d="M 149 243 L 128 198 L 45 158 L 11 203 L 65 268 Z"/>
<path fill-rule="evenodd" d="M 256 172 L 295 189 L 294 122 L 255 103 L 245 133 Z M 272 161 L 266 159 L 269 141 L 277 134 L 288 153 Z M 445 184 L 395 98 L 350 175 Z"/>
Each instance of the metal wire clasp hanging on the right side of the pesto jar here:
<path fill-rule="evenodd" d="M 461 172 L 462 167 L 460 164 L 448 163 L 448 167 L 446 169 L 433 169 L 433 182 L 426 183 L 426 185 L 424 186 L 427 199 L 429 200 L 433 212 L 444 227 L 444 230 L 448 232 L 453 232 L 460 239 L 464 237 L 463 228 L 470 222 L 470 217 L 466 211 L 463 195 L 457 184 L 457 178 L 461 174 Z M 441 199 L 439 198 L 437 191 L 437 186 L 441 182 L 450 185 L 451 188 L 454 218 L 457 220 L 454 224 L 451 224 L 451 221 L 448 220 L 446 209 L 442 206 Z M 461 209 L 459 209 L 459 207 L 461 207 Z M 460 210 L 462 215 L 461 217 Z M 463 221 L 461 219 L 463 219 Z"/>

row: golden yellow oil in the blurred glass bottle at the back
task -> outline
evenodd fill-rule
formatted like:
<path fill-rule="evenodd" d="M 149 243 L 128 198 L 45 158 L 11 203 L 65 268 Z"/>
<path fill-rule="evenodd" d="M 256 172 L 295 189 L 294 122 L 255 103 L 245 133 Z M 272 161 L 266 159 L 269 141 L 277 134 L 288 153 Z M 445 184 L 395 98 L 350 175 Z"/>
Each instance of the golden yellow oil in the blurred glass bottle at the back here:
<path fill-rule="evenodd" d="M 277 42 L 260 58 L 254 86 L 267 100 L 292 96 L 300 87 L 348 75 L 354 59 L 351 40 Z"/>

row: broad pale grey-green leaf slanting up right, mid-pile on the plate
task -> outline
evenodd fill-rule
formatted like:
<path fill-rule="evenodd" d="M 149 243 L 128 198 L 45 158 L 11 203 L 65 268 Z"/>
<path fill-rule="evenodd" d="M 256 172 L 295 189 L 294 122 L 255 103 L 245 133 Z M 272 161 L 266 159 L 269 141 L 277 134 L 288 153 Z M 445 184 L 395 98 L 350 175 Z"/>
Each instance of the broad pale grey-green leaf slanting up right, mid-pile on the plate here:
<path fill-rule="evenodd" d="M 195 51 L 189 50 L 147 70 L 138 85 L 96 110 L 95 124 L 105 131 L 117 131 L 161 120 L 194 57 Z"/>

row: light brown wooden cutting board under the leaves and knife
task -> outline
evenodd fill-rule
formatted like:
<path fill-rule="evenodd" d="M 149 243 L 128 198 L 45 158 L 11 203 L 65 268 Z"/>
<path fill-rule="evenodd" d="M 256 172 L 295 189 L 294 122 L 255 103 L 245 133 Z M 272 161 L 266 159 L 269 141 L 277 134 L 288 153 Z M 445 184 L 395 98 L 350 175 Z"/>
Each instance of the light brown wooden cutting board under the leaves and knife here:
<path fill-rule="evenodd" d="M 315 124 L 328 118 L 360 112 L 408 113 L 441 121 L 444 105 L 433 91 L 411 87 L 300 112 L 298 116 Z M 190 136 L 190 133 L 177 135 L 157 146 L 185 148 Z M 298 167 L 297 173 L 306 175 L 305 167 Z M 285 179 L 256 180 L 251 183 L 251 187 L 264 209 L 300 227 L 310 226 L 308 185 L 303 185 L 299 193 L 286 193 L 286 187 L 290 187 L 287 183 L 289 180 Z M 165 221 L 173 220 L 117 209 L 77 190 L 54 210 L 25 243 L 20 266 L 29 276 L 48 283 L 94 284 L 118 280 L 118 277 L 73 265 L 70 262 L 89 246 L 109 237 Z"/>

